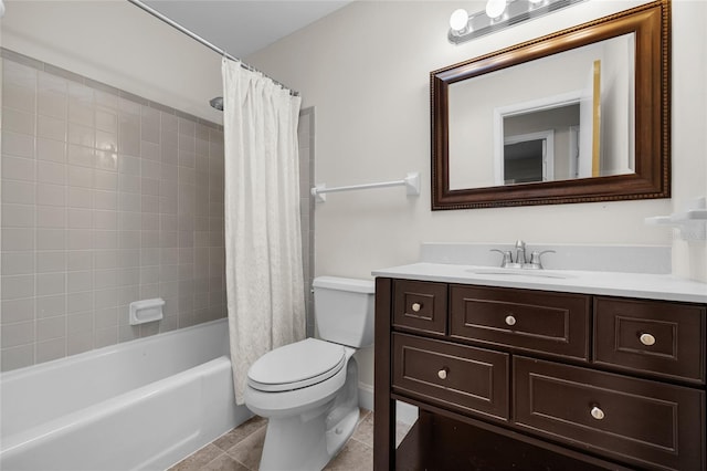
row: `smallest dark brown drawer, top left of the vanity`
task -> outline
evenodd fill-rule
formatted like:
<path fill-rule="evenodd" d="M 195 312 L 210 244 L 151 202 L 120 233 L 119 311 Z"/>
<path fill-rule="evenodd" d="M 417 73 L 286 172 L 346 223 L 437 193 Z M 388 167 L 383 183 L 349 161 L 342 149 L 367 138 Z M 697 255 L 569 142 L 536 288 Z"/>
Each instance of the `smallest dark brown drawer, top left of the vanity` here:
<path fill-rule="evenodd" d="M 395 280 L 393 326 L 446 334 L 446 284 Z"/>

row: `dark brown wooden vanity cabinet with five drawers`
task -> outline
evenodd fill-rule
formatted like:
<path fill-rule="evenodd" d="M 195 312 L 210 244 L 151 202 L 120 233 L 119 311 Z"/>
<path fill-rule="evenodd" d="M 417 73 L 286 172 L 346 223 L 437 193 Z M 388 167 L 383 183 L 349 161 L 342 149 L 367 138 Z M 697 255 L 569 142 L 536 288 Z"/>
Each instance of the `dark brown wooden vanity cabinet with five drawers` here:
<path fill-rule="evenodd" d="M 706 329 L 698 303 L 378 278 L 376 469 L 704 470 Z"/>

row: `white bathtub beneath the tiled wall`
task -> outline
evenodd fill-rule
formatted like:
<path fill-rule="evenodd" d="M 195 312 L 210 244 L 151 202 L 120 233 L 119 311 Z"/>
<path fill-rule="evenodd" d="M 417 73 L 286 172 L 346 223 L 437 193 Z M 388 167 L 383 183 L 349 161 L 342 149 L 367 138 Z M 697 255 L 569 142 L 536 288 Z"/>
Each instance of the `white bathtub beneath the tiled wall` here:
<path fill-rule="evenodd" d="M 0 470 L 165 470 L 247 420 L 226 320 L 0 375 Z"/>

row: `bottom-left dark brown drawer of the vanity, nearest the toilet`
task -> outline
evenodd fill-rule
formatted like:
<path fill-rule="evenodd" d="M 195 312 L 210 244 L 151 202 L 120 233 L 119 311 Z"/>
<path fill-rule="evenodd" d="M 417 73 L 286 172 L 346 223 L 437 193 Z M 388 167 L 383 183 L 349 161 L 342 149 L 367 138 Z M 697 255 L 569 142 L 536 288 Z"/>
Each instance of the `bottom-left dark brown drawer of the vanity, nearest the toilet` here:
<path fill-rule="evenodd" d="M 508 420 L 508 355 L 393 334 L 393 389 L 443 407 Z"/>

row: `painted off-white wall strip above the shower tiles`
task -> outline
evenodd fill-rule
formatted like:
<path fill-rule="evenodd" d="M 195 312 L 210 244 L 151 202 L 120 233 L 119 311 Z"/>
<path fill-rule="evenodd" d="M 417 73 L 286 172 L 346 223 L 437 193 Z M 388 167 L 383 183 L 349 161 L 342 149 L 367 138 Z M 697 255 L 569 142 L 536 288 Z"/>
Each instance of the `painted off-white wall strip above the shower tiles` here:
<path fill-rule="evenodd" d="M 222 123 L 221 56 L 122 0 L 6 1 L 0 45 Z"/>

